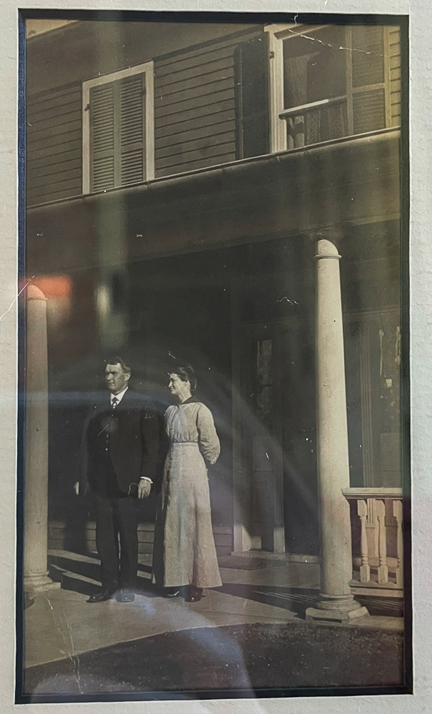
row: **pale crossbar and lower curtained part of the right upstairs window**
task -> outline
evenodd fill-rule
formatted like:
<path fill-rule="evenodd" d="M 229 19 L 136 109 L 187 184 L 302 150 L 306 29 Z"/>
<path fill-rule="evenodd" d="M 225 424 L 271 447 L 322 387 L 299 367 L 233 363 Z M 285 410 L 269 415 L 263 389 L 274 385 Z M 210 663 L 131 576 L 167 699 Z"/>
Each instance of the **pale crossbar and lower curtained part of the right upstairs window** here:
<path fill-rule="evenodd" d="M 348 136 L 346 96 L 284 109 L 279 117 L 286 121 L 288 149 Z"/>

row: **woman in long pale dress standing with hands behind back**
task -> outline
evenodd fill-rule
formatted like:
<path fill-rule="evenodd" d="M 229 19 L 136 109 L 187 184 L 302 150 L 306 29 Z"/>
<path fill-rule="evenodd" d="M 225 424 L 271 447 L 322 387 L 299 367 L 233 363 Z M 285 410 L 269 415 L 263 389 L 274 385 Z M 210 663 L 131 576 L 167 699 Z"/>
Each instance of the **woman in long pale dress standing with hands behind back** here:
<path fill-rule="evenodd" d="M 207 466 L 221 451 L 211 411 L 192 396 L 193 368 L 169 375 L 176 404 L 165 413 L 169 452 L 161 503 L 156 516 L 153 580 L 174 597 L 188 586 L 185 599 L 201 599 L 203 588 L 222 585 L 216 558 Z"/>

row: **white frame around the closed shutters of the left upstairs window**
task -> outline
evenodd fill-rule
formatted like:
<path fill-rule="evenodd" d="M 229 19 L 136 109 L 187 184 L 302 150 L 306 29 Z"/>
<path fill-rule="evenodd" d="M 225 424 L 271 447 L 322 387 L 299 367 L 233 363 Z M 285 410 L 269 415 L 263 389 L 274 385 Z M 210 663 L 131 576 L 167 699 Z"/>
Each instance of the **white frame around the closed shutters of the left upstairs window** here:
<path fill-rule="evenodd" d="M 111 74 L 105 74 L 104 76 L 95 77 L 94 79 L 88 79 L 82 84 L 83 194 L 93 193 L 90 188 L 90 90 L 95 86 L 108 84 L 109 82 L 114 82 L 118 79 L 134 76 L 135 74 L 146 75 L 146 116 L 144 117 L 144 124 L 146 127 L 146 178 L 144 181 L 150 181 L 154 178 L 154 62 L 149 61 L 144 64 L 128 67 L 127 69 L 111 72 Z M 127 184 L 127 186 L 131 185 L 133 184 Z M 106 190 L 113 191 L 114 188 L 127 188 L 127 186 L 114 186 L 113 188 Z M 99 193 L 99 191 L 95 191 L 95 193 Z"/>

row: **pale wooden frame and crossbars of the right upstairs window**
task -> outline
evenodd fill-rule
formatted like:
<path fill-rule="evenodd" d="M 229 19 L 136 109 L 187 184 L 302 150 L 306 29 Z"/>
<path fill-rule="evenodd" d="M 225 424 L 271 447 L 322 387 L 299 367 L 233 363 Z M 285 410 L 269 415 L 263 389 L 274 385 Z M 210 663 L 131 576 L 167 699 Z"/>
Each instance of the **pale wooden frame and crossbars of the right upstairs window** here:
<path fill-rule="evenodd" d="M 286 126 L 285 116 L 294 114 L 298 109 L 306 109 L 309 106 L 320 106 L 321 104 L 328 104 L 329 100 L 324 99 L 319 102 L 312 102 L 311 104 L 305 104 L 304 106 L 293 107 L 292 109 L 285 109 L 283 101 L 283 40 L 288 38 L 294 38 L 298 35 L 308 32 L 316 32 L 325 27 L 328 24 L 314 24 L 314 25 L 301 25 L 301 24 L 272 24 L 264 28 L 268 33 L 268 47 L 269 47 L 269 94 L 270 94 L 270 151 L 271 154 L 276 154 L 278 151 L 288 151 L 288 132 Z M 346 29 L 346 41 L 347 48 L 351 48 L 351 26 L 345 26 Z M 386 117 L 386 129 L 391 128 L 391 106 L 390 106 L 390 90 L 388 87 L 388 27 L 383 26 L 383 62 L 384 62 L 384 81 L 379 85 L 371 85 L 370 89 L 383 87 L 384 89 L 384 111 Z M 348 136 L 360 136 L 360 134 L 354 134 L 353 131 L 353 112 L 352 112 L 352 96 L 356 92 L 364 89 L 363 87 L 353 88 L 352 78 L 351 78 L 351 55 L 348 55 L 348 61 L 346 63 L 346 99 L 347 99 L 347 112 L 348 112 Z M 341 98 L 337 98 L 341 99 Z M 333 100 L 331 100 L 333 101 Z M 379 130 L 383 131 L 383 130 Z"/>

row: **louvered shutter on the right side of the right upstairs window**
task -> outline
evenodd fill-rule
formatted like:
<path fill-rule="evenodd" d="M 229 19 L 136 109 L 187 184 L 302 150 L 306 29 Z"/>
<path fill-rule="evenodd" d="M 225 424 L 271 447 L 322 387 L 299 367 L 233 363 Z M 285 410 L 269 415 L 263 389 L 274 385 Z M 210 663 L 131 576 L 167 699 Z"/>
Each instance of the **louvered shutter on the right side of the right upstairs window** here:
<path fill-rule="evenodd" d="M 384 28 L 352 29 L 353 131 L 363 134 L 386 127 Z"/>

